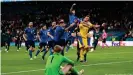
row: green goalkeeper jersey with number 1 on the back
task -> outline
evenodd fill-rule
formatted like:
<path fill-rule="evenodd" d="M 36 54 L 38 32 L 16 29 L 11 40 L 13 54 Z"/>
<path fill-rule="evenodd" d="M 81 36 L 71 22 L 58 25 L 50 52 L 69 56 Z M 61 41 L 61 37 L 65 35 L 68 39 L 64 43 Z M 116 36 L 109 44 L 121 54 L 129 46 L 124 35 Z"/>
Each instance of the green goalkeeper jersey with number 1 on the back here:
<path fill-rule="evenodd" d="M 45 75 L 64 75 L 60 70 L 62 63 L 68 63 L 74 65 L 74 62 L 65 56 L 62 56 L 60 53 L 54 53 L 49 56 L 46 63 Z"/>

